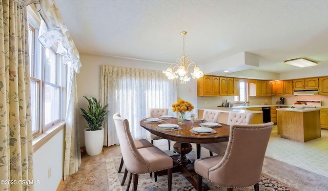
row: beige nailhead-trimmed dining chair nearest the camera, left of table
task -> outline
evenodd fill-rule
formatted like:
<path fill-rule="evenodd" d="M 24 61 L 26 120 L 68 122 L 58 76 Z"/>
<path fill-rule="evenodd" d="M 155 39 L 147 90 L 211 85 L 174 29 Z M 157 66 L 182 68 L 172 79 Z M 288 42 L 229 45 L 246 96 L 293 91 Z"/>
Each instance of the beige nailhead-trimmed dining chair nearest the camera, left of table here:
<path fill-rule="evenodd" d="M 130 177 L 133 176 L 133 190 L 137 190 L 139 174 L 165 169 L 168 171 L 168 190 L 172 190 L 172 158 L 156 146 L 136 148 L 130 132 L 129 121 L 121 118 L 118 113 L 113 115 L 113 119 L 125 167 L 130 172 Z M 130 183 L 131 178 L 127 190 Z"/>

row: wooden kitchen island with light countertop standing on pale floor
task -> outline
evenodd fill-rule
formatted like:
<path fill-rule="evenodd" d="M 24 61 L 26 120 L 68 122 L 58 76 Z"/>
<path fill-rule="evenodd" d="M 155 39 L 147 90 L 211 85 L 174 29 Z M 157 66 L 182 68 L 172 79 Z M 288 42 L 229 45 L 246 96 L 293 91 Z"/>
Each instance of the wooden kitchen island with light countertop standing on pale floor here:
<path fill-rule="evenodd" d="M 281 108 L 276 110 L 280 137 L 298 142 L 321 137 L 320 109 Z"/>

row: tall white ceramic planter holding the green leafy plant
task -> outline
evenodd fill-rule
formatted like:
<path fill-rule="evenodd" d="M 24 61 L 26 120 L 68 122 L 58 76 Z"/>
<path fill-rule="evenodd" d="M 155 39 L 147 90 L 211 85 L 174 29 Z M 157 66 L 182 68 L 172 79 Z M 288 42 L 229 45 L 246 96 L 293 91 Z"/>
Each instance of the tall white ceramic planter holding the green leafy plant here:
<path fill-rule="evenodd" d="M 103 150 L 104 129 L 97 131 L 84 131 L 84 139 L 86 144 L 87 154 L 90 156 L 99 155 Z"/>

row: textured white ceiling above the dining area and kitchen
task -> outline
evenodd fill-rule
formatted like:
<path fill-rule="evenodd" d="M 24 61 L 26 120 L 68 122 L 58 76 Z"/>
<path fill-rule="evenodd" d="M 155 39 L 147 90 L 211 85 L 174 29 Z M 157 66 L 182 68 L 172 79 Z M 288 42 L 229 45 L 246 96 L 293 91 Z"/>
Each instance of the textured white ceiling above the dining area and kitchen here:
<path fill-rule="evenodd" d="M 199 66 L 223 70 L 229 66 L 221 60 L 242 52 L 258 57 L 254 70 L 306 70 L 283 63 L 298 57 L 328 66 L 325 0 L 55 2 L 80 53 L 170 63 L 182 54 L 180 32 L 188 31 L 186 55 Z"/>

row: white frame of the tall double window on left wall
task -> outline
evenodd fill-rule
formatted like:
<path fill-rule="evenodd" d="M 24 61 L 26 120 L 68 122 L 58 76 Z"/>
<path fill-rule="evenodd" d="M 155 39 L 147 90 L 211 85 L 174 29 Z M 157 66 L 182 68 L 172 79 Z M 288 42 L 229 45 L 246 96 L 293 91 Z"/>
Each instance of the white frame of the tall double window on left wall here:
<path fill-rule="evenodd" d="M 29 50 L 32 55 L 30 59 L 30 80 L 31 82 L 35 82 L 37 86 L 36 90 L 36 103 L 33 105 L 36 108 L 35 113 L 31 113 L 31 118 L 35 118 L 36 130 L 33 131 L 33 137 L 36 137 L 40 134 L 47 132 L 47 130 L 51 129 L 53 126 L 56 126 L 61 121 L 65 120 L 66 115 L 66 92 L 67 92 L 67 65 L 64 65 L 63 56 L 56 53 L 56 46 L 52 46 L 49 49 L 55 53 L 56 56 L 56 82 L 49 83 L 45 81 L 45 48 L 43 48 L 38 41 L 38 29 L 40 20 L 37 13 L 33 11 L 33 9 L 28 9 L 28 22 L 29 27 L 32 27 L 34 31 L 34 35 L 32 40 L 29 40 L 29 43 L 32 42 L 33 45 L 29 45 L 32 47 L 32 50 Z M 50 121 L 48 124 L 45 124 L 45 87 L 46 83 L 50 84 L 50 86 L 54 86 L 59 88 L 59 105 L 58 105 L 58 117 Z M 31 92 L 32 94 L 32 92 Z M 31 97 L 32 99 L 32 97 Z M 32 107 L 32 105 L 31 105 Z M 36 116 L 35 116 L 36 115 Z"/>

